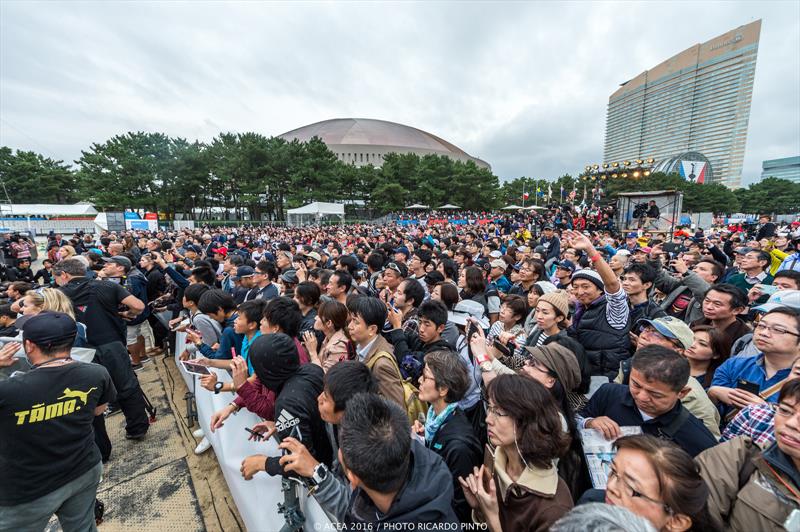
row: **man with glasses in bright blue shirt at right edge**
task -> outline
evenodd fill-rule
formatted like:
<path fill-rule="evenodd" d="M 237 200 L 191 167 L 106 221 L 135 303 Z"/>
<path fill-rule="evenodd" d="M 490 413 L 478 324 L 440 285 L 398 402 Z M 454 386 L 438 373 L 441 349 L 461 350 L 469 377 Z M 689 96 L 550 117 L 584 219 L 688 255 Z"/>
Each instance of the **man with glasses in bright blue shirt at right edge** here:
<path fill-rule="evenodd" d="M 708 395 L 724 412 L 778 400 L 800 355 L 800 312 L 789 307 L 767 312 L 756 325 L 753 342 L 761 354 L 730 358 L 714 373 Z"/>

